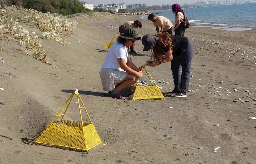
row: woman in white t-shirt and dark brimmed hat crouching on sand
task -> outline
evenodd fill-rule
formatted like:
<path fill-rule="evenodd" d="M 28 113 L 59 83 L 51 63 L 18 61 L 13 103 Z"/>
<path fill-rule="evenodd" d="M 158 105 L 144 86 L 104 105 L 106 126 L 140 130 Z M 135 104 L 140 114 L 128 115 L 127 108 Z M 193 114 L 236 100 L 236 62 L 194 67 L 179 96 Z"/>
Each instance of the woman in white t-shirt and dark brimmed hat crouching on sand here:
<path fill-rule="evenodd" d="M 140 39 L 137 32 L 129 27 L 109 49 L 100 71 L 100 78 L 103 90 L 109 91 L 110 97 L 125 100 L 119 92 L 142 77 L 142 66 L 137 68 L 128 58 L 127 52 L 127 47 L 134 46 L 134 42 Z"/>

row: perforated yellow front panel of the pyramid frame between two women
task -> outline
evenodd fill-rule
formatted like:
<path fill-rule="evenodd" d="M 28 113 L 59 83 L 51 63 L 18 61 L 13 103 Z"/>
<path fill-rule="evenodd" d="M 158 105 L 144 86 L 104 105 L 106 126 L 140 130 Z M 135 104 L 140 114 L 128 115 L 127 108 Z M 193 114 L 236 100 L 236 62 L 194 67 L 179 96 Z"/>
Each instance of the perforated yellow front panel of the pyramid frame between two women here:
<path fill-rule="evenodd" d="M 132 100 L 164 98 L 157 86 L 137 86 Z"/>

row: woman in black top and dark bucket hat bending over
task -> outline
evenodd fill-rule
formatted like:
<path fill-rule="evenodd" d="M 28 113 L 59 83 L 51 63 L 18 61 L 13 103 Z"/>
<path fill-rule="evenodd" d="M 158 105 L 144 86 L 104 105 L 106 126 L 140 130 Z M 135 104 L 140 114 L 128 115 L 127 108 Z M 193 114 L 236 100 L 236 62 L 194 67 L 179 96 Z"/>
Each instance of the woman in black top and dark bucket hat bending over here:
<path fill-rule="evenodd" d="M 144 35 L 142 44 L 144 45 L 143 51 L 152 49 L 154 52 L 154 61 L 147 61 L 147 65 L 157 66 L 171 61 L 174 90 L 169 94 L 175 94 L 174 97 L 187 97 L 194 49 L 192 41 L 184 36 L 157 33 L 156 35 Z"/>

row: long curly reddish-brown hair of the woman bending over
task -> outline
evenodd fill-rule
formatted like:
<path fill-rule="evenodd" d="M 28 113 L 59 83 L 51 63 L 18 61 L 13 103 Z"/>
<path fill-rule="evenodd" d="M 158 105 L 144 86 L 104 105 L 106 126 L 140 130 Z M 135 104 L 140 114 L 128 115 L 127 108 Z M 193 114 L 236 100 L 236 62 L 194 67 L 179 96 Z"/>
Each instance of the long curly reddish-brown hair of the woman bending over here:
<path fill-rule="evenodd" d="M 172 45 L 172 39 L 169 33 L 160 33 L 156 34 L 159 37 L 157 45 L 153 48 L 154 52 L 154 61 L 158 61 L 164 58 L 164 48 L 169 47 L 173 50 L 174 46 Z"/>

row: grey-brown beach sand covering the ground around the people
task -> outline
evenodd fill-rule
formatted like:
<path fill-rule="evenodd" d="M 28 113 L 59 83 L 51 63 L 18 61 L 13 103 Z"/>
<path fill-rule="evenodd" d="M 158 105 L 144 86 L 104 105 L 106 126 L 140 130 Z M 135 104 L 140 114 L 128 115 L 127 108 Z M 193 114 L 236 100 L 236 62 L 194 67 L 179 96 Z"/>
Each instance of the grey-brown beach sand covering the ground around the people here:
<path fill-rule="evenodd" d="M 72 39 L 67 38 L 69 45 L 42 39 L 50 62 L 58 68 L 24 55 L 16 50 L 21 47 L 17 43 L 4 40 L 8 45 L 1 44 L 5 51 L 0 51 L 0 57 L 5 63 L 0 62 L 0 86 L 6 88 L 0 90 L 0 101 L 5 103 L 0 104 L 0 163 L 256 163 L 256 120 L 248 120 L 256 116 L 254 102 L 232 102 L 248 100 L 243 98 L 248 94 L 245 90 L 256 98 L 256 89 L 251 89 L 256 88 L 256 71 L 251 69 L 256 69 L 256 59 L 252 59 L 256 56 L 255 30 L 189 28 L 185 36 L 194 43 L 190 89 L 195 92 L 183 99 L 167 95 L 165 100 L 123 101 L 108 97 L 102 89 L 99 71 L 107 53 L 103 47 L 122 22 L 139 16 L 102 20 L 77 16 L 72 19 L 84 26 L 78 25 Z M 150 21 L 141 21 L 140 36 L 155 34 Z M 30 32 L 37 30 L 29 24 L 26 27 Z M 142 51 L 141 41 L 136 41 L 135 50 L 145 54 L 132 56 L 136 66 L 141 66 L 150 54 Z M 170 85 L 159 83 L 164 95 L 174 87 L 170 62 L 148 67 L 148 71 L 154 80 L 171 81 Z M 76 88 L 103 144 L 108 144 L 88 153 L 34 146 L 38 134 Z M 231 92 L 229 96 L 225 89 Z M 72 102 L 65 117 L 79 121 L 76 101 Z"/>

